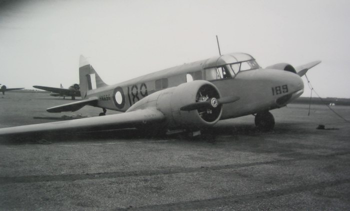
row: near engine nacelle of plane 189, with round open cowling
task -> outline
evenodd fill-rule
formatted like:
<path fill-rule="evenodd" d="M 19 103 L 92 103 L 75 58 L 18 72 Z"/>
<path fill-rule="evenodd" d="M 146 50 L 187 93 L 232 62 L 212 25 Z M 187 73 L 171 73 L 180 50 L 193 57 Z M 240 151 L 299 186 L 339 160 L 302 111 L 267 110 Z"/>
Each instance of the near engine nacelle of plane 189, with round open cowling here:
<path fill-rule="evenodd" d="M 212 83 L 195 80 L 155 92 L 136 102 L 126 112 L 155 107 L 164 114 L 167 128 L 198 129 L 214 125 L 221 117 L 222 106 L 191 111 L 181 111 L 180 108 L 213 97 L 219 99 L 220 93 Z"/>

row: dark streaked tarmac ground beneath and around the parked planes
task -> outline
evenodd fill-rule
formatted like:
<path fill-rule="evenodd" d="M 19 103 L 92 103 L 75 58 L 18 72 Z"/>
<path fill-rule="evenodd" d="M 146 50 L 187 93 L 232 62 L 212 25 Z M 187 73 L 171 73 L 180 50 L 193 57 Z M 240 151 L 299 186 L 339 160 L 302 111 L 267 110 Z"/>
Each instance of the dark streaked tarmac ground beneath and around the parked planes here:
<path fill-rule="evenodd" d="M 45 111 L 69 102 L 6 92 L 0 128 L 101 112 Z M 332 109 L 350 120 L 350 107 Z M 0 210 L 350 210 L 350 124 L 324 105 L 311 105 L 310 116 L 301 104 L 271 113 L 270 132 L 246 116 L 196 138 L 134 129 L 0 137 Z"/>

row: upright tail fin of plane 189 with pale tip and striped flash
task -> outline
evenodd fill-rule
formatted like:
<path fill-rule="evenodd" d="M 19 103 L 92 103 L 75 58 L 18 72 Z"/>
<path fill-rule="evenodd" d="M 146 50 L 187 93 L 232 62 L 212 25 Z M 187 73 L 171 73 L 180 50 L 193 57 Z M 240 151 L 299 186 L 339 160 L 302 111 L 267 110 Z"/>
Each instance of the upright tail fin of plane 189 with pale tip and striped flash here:
<path fill-rule="evenodd" d="M 81 98 L 85 99 L 90 90 L 107 86 L 97 72 L 93 69 L 86 58 L 80 55 L 79 60 L 79 83 Z"/>

